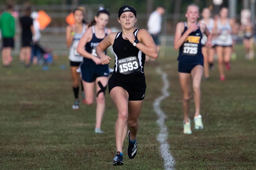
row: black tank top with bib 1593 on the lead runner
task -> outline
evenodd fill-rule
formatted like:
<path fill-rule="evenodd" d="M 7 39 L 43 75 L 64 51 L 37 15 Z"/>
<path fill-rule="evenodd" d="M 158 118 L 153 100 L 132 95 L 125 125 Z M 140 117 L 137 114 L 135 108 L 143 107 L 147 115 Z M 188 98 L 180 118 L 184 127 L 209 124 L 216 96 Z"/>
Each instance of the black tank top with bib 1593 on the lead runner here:
<path fill-rule="evenodd" d="M 137 38 L 138 29 L 133 34 Z M 145 54 L 133 46 L 130 41 L 123 39 L 123 32 L 118 32 L 113 44 L 115 55 L 114 73 L 125 75 L 144 75 Z"/>

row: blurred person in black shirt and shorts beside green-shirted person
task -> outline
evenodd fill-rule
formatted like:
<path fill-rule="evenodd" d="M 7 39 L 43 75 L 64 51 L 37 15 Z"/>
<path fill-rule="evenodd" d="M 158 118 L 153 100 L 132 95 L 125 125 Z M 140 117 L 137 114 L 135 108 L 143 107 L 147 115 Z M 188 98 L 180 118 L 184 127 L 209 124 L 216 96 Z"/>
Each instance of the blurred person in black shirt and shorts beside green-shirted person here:
<path fill-rule="evenodd" d="M 21 64 L 25 64 L 26 68 L 30 67 L 32 37 L 35 35 L 33 19 L 30 17 L 30 14 L 31 5 L 26 4 L 24 7 L 24 16 L 19 19 L 22 29 L 19 61 Z"/>

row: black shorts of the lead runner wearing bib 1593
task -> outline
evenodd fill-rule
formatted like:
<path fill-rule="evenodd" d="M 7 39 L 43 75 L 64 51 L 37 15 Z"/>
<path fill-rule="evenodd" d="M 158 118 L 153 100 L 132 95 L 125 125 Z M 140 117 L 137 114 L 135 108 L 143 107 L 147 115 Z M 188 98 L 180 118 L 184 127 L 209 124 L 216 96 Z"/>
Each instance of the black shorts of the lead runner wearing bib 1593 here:
<path fill-rule="evenodd" d="M 114 87 L 122 87 L 129 94 L 130 101 L 143 100 L 146 92 L 145 75 L 121 75 L 113 73 L 109 78 L 109 93 Z"/>

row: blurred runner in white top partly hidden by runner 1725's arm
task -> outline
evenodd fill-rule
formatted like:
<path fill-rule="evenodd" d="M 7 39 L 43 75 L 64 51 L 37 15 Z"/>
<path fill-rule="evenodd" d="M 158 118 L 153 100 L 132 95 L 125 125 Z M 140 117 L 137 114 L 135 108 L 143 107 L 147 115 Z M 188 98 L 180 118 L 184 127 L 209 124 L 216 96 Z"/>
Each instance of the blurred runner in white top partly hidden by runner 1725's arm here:
<path fill-rule="evenodd" d="M 212 33 L 213 27 L 214 27 L 214 20 L 211 17 L 211 11 L 209 8 L 204 8 L 202 10 L 202 17 L 199 21 L 200 24 L 205 24 L 208 31 Z M 202 44 L 202 54 L 204 56 L 204 78 L 208 80 L 209 78 L 209 68 L 213 68 L 213 60 L 214 60 L 214 48 L 208 48 L 205 46 L 205 43 L 207 42 L 207 36 L 203 34 L 201 44 Z M 212 40 L 212 43 L 214 44 L 214 39 Z"/>

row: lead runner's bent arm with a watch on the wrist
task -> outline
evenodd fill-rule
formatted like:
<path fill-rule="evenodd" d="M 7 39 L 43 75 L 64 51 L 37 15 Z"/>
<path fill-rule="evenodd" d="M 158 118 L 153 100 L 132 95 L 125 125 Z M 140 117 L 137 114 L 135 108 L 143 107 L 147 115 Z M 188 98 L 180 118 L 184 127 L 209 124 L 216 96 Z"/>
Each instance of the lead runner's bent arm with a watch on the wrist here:
<path fill-rule="evenodd" d="M 137 33 L 138 41 L 140 43 L 136 44 L 136 47 L 142 51 L 142 53 L 146 54 L 147 56 L 157 59 L 157 49 L 156 44 L 153 41 L 152 37 L 150 36 L 149 32 L 145 29 L 140 29 Z M 135 36 L 133 33 L 129 33 L 125 37 L 127 40 L 134 43 Z"/>

